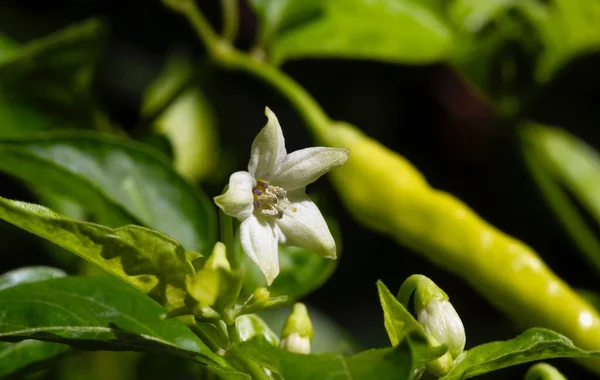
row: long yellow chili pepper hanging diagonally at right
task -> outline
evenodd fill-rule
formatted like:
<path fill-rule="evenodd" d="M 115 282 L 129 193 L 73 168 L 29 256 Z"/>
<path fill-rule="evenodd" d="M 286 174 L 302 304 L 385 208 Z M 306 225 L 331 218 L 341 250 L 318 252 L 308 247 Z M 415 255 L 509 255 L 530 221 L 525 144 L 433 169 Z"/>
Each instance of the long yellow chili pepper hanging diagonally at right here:
<path fill-rule="evenodd" d="M 600 349 L 600 315 L 533 249 L 431 188 L 410 162 L 355 127 L 334 123 L 318 137 L 351 151 L 330 178 L 360 223 L 459 275 L 517 323 L 547 327 L 581 348 Z M 600 361 L 584 364 L 600 373 Z"/>

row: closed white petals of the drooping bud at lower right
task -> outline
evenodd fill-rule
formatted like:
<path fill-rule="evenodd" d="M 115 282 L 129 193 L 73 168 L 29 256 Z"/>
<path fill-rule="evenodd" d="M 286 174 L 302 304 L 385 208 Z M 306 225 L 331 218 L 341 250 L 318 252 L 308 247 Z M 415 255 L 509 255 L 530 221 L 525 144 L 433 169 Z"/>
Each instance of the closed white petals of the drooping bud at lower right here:
<path fill-rule="evenodd" d="M 431 300 L 417 312 L 417 320 L 426 333 L 439 343 L 448 345 L 452 358 L 456 359 L 465 349 L 465 327 L 450 301 Z"/>

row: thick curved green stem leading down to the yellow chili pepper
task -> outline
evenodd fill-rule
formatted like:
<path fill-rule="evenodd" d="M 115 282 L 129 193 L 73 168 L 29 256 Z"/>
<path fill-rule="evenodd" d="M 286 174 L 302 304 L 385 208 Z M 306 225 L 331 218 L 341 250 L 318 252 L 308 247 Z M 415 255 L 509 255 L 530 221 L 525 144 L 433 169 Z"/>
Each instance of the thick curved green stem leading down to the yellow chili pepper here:
<path fill-rule="evenodd" d="M 288 75 L 269 65 L 235 50 L 227 41 L 219 40 L 200 9 L 192 0 L 163 0 L 172 9 L 182 13 L 206 45 L 211 58 L 225 69 L 241 70 L 258 77 L 281 92 L 296 108 L 317 137 L 323 136 L 331 124 L 316 100 Z"/>

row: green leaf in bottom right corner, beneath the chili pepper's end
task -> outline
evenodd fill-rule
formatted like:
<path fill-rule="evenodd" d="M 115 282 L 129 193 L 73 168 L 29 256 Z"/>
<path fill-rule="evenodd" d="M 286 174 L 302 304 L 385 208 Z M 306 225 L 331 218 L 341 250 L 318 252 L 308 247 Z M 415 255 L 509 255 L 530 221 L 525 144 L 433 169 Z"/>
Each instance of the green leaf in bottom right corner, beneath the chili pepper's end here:
<path fill-rule="evenodd" d="M 599 356 L 599 351 L 582 350 L 552 330 L 533 328 L 514 339 L 482 344 L 463 352 L 456 358 L 452 371 L 442 379 L 468 379 L 537 360 Z"/>

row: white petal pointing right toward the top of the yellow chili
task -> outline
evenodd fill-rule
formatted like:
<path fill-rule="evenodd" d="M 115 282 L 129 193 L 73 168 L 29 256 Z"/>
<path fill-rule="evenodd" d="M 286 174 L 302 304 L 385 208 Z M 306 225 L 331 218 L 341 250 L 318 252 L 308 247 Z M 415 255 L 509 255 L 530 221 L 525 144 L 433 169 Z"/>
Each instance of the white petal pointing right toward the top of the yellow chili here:
<path fill-rule="evenodd" d="M 271 177 L 274 185 L 285 190 L 306 187 L 333 168 L 342 166 L 350 151 L 343 148 L 314 147 L 287 155 Z"/>

